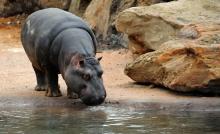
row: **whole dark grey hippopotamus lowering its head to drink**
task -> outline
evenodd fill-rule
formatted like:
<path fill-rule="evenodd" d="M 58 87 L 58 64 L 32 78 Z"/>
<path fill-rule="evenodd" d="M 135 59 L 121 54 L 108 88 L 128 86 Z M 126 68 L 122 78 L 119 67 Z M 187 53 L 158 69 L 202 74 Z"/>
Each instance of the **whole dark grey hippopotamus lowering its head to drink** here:
<path fill-rule="evenodd" d="M 75 94 L 86 105 L 99 105 L 106 98 L 97 40 L 80 17 L 57 8 L 29 15 L 21 29 L 21 42 L 36 74 L 36 91 L 61 96 L 58 74 L 68 96 Z"/>

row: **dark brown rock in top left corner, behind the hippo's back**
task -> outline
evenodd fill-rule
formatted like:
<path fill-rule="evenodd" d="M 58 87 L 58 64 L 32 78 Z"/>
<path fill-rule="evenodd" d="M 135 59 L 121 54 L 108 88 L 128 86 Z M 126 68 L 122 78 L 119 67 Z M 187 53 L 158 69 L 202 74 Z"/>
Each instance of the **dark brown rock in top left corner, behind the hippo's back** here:
<path fill-rule="evenodd" d="M 21 13 L 32 13 L 36 10 L 56 7 L 68 10 L 71 0 L 1 0 L 0 17 L 8 17 Z"/>

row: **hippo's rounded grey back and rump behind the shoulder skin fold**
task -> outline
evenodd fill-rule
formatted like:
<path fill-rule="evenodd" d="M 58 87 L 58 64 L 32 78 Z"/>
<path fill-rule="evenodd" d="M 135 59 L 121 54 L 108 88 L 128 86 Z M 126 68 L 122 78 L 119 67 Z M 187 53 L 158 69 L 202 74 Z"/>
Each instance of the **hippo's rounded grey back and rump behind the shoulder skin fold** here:
<path fill-rule="evenodd" d="M 39 62 L 40 64 L 48 62 L 47 57 L 52 42 L 59 33 L 69 28 L 87 31 L 93 40 L 94 53 L 96 53 L 96 38 L 81 18 L 61 9 L 48 8 L 31 14 L 21 31 L 21 41 L 32 64 L 39 66 Z"/>

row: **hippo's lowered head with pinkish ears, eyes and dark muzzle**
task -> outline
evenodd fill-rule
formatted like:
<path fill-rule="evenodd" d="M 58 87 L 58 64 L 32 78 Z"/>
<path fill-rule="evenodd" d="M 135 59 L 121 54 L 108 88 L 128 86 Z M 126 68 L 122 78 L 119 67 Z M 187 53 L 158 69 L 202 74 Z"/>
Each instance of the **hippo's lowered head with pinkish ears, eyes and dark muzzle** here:
<path fill-rule="evenodd" d="M 70 92 L 78 94 L 86 105 L 99 105 L 106 97 L 100 60 L 101 58 L 74 56 L 65 71 L 64 79 Z"/>

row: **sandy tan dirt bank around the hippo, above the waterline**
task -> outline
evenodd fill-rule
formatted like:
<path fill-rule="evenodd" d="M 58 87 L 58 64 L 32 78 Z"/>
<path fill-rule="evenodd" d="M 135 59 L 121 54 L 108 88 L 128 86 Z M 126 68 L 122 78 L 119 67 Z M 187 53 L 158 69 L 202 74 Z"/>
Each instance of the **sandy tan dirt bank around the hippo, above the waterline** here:
<path fill-rule="evenodd" d="M 66 97 L 66 85 L 61 76 L 59 83 L 62 97 L 49 98 L 44 96 L 44 92 L 34 91 L 36 84 L 34 71 L 21 46 L 19 35 L 19 26 L 8 26 L 7 20 L 4 24 L 1 23 L 0 107 L 73 104 L 74 101 Z M 131 54 L 126 49 L 105 50 L 97 55 L 103 56 L 101 65 L 107 90 L 104 105 L 135 105 L 146 109 L 220 110 L 219 97 L 190 96 L 152 85 L 134 83 L 123 73 L 126 63 L 132 60 Z"/>

